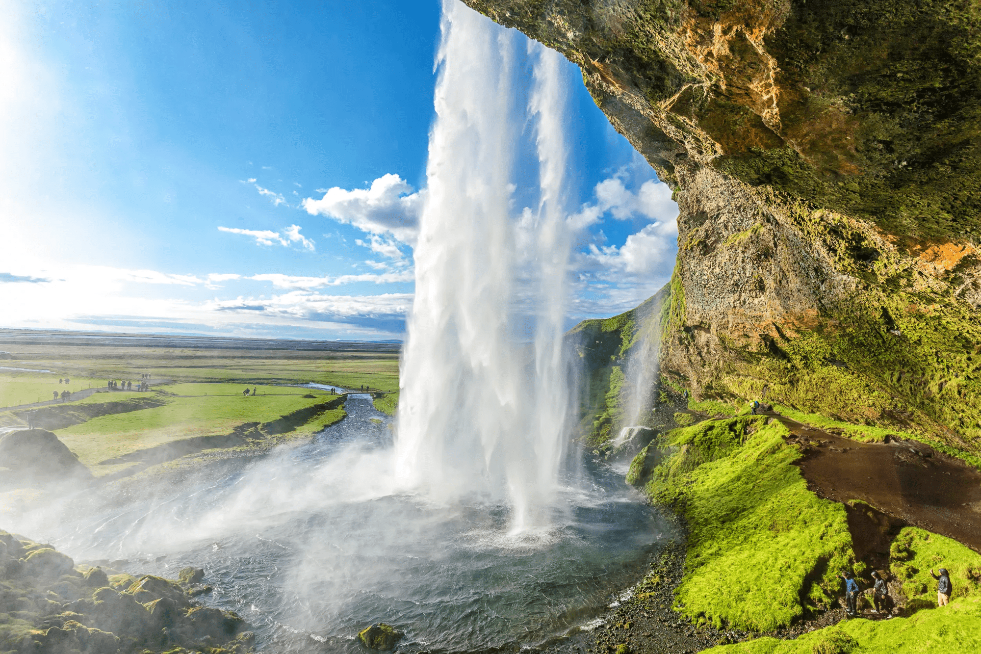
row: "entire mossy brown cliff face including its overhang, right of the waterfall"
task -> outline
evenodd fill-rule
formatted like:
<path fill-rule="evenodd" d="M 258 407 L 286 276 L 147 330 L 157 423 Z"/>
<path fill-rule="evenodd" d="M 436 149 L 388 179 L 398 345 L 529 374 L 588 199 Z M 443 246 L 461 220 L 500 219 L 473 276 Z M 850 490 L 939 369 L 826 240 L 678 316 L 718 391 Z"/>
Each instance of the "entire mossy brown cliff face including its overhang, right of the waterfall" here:
<path fill-rule="evenodd" d="M 981 6 L 465 0 L 675 190 L 662 373 L 981 452 Z"/>

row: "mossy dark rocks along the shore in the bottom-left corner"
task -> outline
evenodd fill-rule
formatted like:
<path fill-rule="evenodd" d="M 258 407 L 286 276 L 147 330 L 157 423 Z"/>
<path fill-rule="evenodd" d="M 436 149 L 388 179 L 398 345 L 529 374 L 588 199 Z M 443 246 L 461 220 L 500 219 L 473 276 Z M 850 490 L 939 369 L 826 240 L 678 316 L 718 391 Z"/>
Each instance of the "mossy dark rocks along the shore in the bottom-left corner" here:
<path fill-rule="evenodd" d="M 113 654 L 245 654 L 248 625 L 193 598 L 204 571 L 134 576 L 76 565 L 52 546 L 0 531 L 0 651 Z"/>

